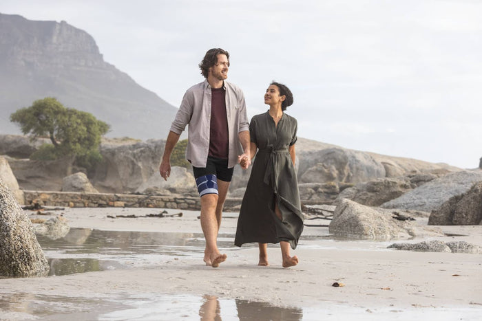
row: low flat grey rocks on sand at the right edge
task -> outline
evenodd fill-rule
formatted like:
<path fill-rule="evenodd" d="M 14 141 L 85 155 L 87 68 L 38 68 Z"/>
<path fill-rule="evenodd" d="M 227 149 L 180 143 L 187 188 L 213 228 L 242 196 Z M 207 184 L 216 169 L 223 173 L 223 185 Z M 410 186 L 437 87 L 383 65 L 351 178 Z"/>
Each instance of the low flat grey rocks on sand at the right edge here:
<path fill-rule="evenodd" d="M 417 252 L 482 253 L 482 248 L 479 245 L 470 244 L 465 241 L 451 241 L 444 243 L 443 241 L 432 240 L 420 243 L 395 243 L 388 246 L 388 248 Z"/>

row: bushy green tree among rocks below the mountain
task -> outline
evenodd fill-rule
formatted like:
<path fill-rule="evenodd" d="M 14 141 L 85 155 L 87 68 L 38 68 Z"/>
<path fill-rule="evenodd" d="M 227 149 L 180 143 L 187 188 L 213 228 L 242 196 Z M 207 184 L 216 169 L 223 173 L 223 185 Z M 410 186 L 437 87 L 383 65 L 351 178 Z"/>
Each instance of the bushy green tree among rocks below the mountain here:
<path fill-rule="evenodd" d="M 32 106 L 15 111 L 10 121 L 19 123 L 25 135 L 50 138 L 52 145 L 41 146 L 32 158 L 66 158 L 70 165 L 77 160 L 84 166 L 101 159 L 98 146 L 110 128 L 91 113 L 66 108 L 52 97 L 36 100 Z"/>

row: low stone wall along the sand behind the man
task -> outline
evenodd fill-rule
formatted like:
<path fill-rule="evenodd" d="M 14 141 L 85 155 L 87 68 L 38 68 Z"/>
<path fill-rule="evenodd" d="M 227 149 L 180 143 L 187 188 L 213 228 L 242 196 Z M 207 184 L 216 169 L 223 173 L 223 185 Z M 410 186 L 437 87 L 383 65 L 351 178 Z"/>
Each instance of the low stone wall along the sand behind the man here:
<path fill-rule="evenodd" d="M 71 208 L 178 208 L 180 210 L 200 210 L 199 197 L 176 197 L 156 195 L 106 194 L 84 192 L 42 192 L 24 190 L 25 204 L 39 203 L 41 206 L 61 206 Z M 241 199 L 227 199 L 224 210 L 236 210 Z"/>

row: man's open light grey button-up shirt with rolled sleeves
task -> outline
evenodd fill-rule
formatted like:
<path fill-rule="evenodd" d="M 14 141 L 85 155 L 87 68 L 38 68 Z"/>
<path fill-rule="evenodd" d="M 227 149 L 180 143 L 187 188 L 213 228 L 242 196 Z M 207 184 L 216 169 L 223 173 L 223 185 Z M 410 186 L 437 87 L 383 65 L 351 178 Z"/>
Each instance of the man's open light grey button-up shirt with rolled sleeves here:
<path fill-rule="evenodd" d="M 243 153 L 238 133 L 249 131 L 249 120 L 240 87 L 224 80 L 224 90 L 229 136 L 228 168 L 231 168 L 238 164 L 238 155 Z M 211 126 L 211 86 L 207 80 L 187 89 L 171 131 L 180 135 L 187 124 L 186 158 L 195 167 L 206 167 Z"/>

